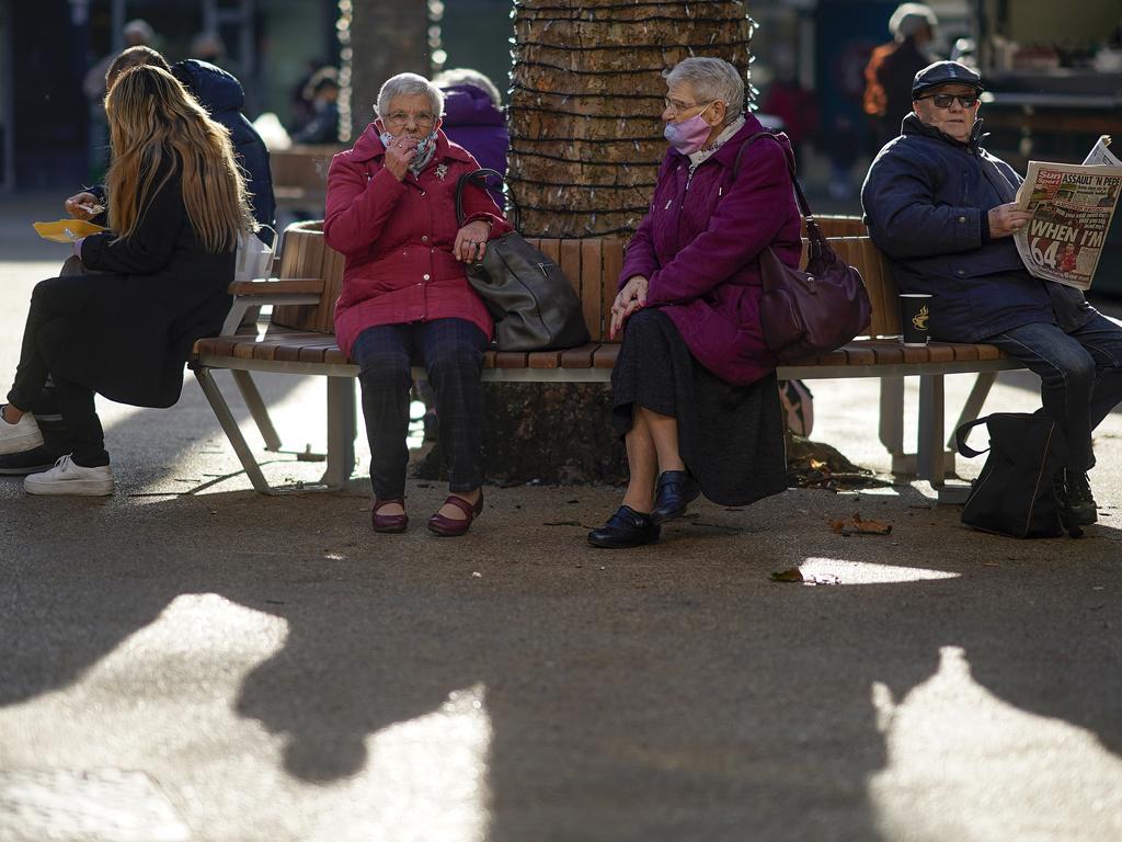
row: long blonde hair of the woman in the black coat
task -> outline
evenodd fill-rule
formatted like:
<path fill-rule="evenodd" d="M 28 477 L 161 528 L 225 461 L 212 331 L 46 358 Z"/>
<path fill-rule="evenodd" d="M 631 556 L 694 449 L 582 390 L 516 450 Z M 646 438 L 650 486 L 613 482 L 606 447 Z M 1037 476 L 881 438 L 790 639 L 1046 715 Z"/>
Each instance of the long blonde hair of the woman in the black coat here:
<path fill-rule="evenodd" d="M 126 70 L 105 97 L 105 113 L 112 148 L 105 179 L 109 225 L 119 239 L 132 236 L 176 166 L 187 219 L 206 251 L 230 251 L 239 234 L 257 230 L 230 132 L 175 76 L 151 65 Z M 163 181 L 155 184 L 159 172 Z"/>

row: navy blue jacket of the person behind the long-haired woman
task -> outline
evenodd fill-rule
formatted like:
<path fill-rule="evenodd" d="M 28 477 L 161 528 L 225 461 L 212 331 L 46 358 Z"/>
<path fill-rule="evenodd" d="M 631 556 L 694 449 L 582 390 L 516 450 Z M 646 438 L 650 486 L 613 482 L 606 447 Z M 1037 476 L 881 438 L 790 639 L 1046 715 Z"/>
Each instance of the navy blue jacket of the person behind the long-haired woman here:
<path fill-rule="evenodd" d="M 276 219 L 276 200 L 273 198 L 269 152 L 265 148 L 265 141 L 257 134 L 257 129 L 241 113 L 246 104 L 246 92 L 241 88 L 241 82 L 221 67 L 197 58 L 173 64 L 172 73 L 199 100 L 213 120 L 230 129 L 230 140 L 238 155 L 238 163 L 248 173 L 247 186 L 254 219 L 261 225 L 273 226 Z"/>

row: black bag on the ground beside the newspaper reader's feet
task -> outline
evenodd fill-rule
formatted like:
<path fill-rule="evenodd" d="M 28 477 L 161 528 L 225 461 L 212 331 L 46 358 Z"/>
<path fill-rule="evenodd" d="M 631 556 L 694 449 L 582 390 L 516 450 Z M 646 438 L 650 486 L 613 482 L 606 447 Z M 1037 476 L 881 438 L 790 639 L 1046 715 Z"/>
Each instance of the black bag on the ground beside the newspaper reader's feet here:
<path fill-rule="evenodd" d="M 1042 413 L 995 412 L 955 431 L 958 452 L 981 456 L 966 445 L 969 431 L 985 424 L 990 456 L 971 485 L 963 506 L 963 523 L 1012 538 L 1083 536 L 1067 504 L 1057 494 L 1067 464 L 1067 439 L 1059 424 Z"/>

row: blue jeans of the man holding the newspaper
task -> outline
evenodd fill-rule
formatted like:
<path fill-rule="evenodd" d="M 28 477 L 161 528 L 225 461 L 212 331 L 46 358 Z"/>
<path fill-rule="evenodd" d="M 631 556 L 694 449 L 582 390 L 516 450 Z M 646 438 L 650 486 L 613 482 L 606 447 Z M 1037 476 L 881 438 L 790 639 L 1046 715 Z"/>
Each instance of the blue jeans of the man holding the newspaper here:
<path fill-rule="evenodd" d="M 1122 328 L 1096 314 L 1070 333 L 1050 323 L 1022 324 L 985 341 L 1040 375 L 1043 412 L 1067 438 L 1067 467 L 1094 467 L 1091 432 L 1122 402 Z"/>

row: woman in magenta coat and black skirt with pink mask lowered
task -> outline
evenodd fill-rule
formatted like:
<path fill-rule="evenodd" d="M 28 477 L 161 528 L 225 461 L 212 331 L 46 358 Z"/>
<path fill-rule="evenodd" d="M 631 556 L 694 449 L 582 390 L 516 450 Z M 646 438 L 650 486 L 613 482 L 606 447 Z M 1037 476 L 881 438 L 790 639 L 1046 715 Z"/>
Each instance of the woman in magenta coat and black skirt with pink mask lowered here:
<path fill-rule="evenodd" d="M 659 539 L 703 493 L 746 505 L 787 487 L 775 357 L 760 327 L 760 254 L 795 266 L 800 221 L 780 143 L 742 113 L 744 81 L 719 58 L 666 74 L 671 148 L 627 247 L 613 333 L 616 431 L 631 481 L 623 505 L 588 534 L 597 547 Z"/>

